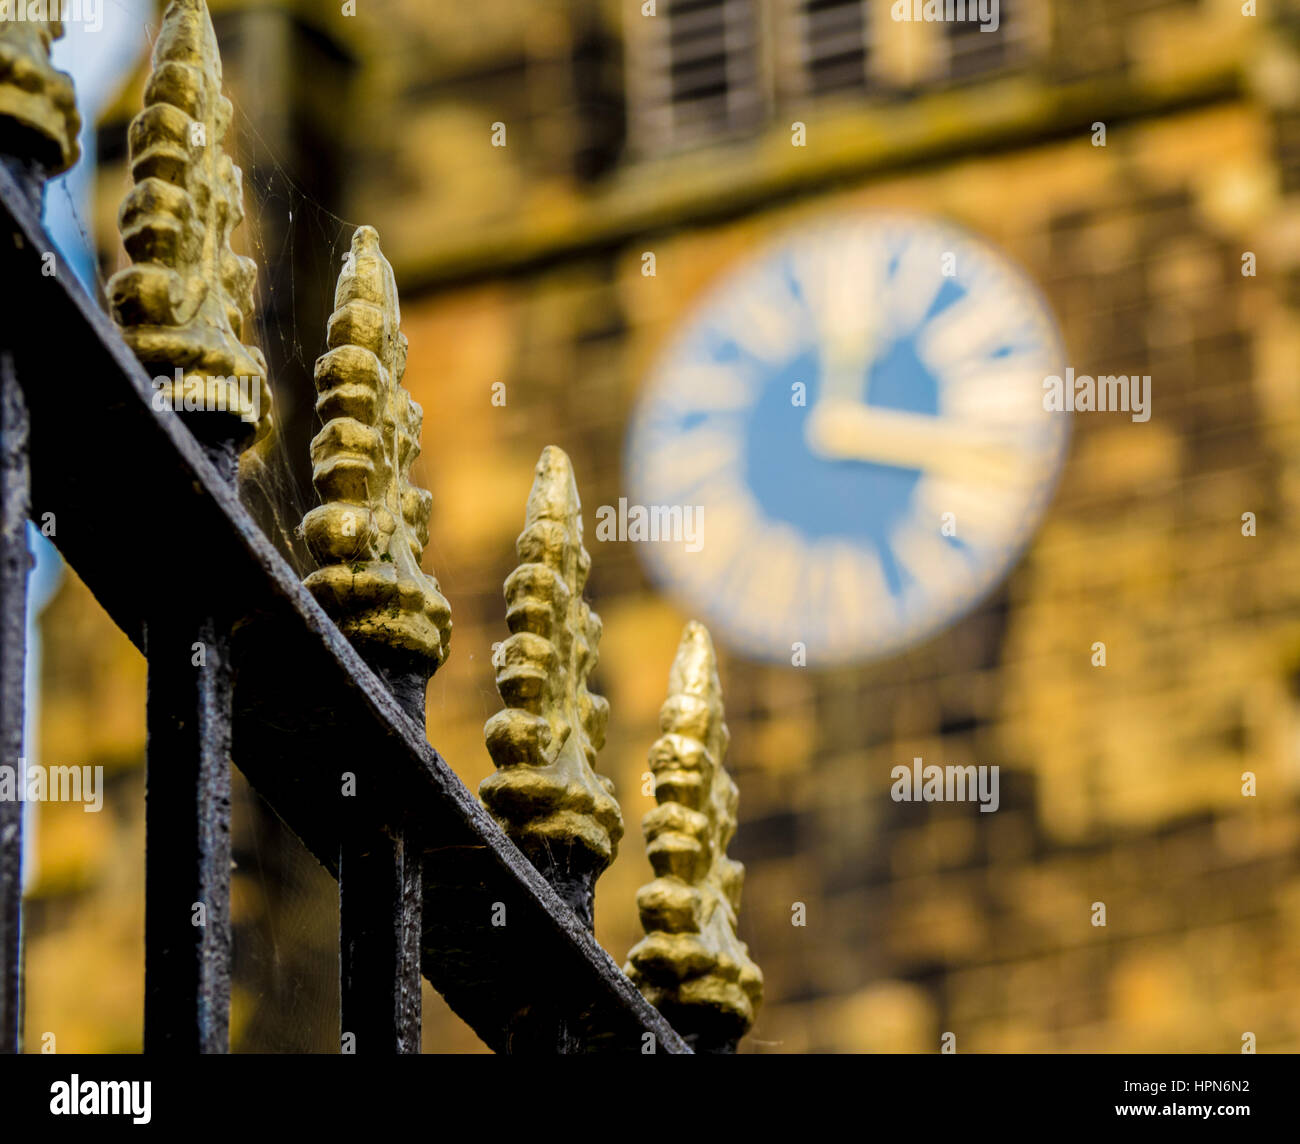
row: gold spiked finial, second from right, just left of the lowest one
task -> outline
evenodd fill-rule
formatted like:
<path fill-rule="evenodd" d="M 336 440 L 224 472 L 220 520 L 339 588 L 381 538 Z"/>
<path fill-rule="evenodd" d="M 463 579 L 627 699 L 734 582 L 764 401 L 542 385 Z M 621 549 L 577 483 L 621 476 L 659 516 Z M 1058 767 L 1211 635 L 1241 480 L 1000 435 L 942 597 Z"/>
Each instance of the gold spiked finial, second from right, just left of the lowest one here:
<path fill-rule="evenodd" d="M 506 703 L 488 720 L 499 768 L 478 788 L 484 803 L 588 927 L 595 879 L 614 861 L 623 815 L 614 784 L 594 770 L 610 705 L 586 689 L 601 618 L 582 599 L 592 558 L 568 455 L 542 450 L 506 580 L 511 636 L 494 662 Z"/>

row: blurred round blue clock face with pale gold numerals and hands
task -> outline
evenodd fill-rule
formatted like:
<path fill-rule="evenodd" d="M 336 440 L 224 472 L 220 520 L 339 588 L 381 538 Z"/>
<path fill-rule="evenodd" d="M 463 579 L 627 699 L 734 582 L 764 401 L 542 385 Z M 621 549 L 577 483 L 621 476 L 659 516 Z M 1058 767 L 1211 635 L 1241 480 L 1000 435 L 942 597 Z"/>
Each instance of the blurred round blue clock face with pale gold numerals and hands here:
<path fill-rule="evenodd" d="M 628 502 L 681 508 L 698 536 L 637 547 L 751 658 L 896 653 L 968 611 L 1032 534 L 1069 437 L 1043 407 L 1063 356 L 1030 280 L 954 226 L 796 231 L 732 273 L 651 372 Z"/>

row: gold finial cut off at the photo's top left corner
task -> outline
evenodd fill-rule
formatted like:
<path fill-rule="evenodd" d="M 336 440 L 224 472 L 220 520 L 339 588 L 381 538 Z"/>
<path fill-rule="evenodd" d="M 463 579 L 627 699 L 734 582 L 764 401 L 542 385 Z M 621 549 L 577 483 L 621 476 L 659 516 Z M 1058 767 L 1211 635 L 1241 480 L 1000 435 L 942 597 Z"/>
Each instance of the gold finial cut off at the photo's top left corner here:
<path fill-rule="evenodd" d="M 9 5 L 6 5 L 9 6 Z M 42 5 L 58 12 L 57 0 Z M 64 34 L 57 16 L 29 12 L 0 17 L 0 151 L 34 159 L 53 176 L 79 157 L 81 116 L 72 77 L 49 62 L 49 46 Z"/>

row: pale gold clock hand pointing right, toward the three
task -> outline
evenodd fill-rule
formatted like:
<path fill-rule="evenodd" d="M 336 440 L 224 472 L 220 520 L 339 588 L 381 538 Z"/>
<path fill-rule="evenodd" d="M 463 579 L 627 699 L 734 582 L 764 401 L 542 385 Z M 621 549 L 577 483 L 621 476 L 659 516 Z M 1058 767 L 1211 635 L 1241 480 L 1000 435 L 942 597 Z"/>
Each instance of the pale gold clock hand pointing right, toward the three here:
<path fill-rule="evenodd" d="M 997 433 L 970 422 L 842 399 L 819 400 L 803 436 L 819 456 L 922 469 L 961 481 L 1018 484 L 1022 458 Z"/>

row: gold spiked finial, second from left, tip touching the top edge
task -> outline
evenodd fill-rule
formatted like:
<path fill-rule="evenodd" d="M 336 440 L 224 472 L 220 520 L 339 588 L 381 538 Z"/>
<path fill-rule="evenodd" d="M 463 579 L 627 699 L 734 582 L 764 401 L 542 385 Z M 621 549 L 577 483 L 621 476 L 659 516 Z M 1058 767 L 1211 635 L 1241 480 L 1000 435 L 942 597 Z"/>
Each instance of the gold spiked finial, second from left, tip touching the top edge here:
<path fill-rule="evenodd" d="M 221 146 L 230 117 L 207 4 L 172 0 L 129 131 L 135 186 L 118 229 L 134 265 L 108 299 L 155 407 L 204 411 L 188 419 L 200 439 L 242 447 L 269 432 L 270 390 L 261 351 L 240 341 L 257 268 L 230 250 L 243 221 L 243 179 Z"/>

